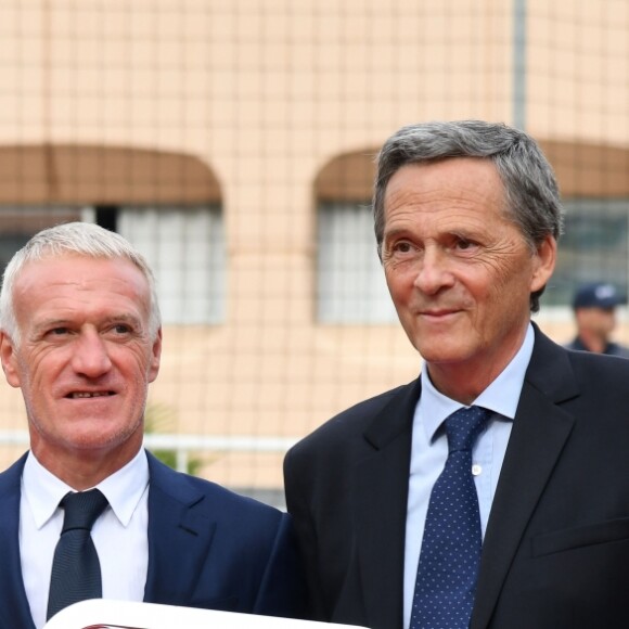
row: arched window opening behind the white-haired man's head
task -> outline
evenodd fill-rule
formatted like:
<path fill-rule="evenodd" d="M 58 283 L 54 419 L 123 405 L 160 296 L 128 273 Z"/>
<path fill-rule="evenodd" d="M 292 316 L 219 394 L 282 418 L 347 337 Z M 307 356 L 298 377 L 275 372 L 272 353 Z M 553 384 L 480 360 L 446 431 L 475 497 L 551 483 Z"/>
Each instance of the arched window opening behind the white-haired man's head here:
<path fill-rule="evenodd" d="M 0 174 L 2 266 L 40 229 L 97 222 L 146 256 L 165 323 L 223 321 L 221 195 L 196 157 L 114 146 L 5 146 Z"/>

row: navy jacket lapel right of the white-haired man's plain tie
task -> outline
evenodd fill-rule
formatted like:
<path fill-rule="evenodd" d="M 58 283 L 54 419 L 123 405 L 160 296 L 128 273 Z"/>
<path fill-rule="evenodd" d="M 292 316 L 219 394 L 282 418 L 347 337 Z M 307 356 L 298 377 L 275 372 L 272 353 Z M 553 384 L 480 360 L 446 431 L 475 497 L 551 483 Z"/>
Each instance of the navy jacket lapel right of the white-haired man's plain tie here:
<path fill-rule="evenodd" d="M 184 477 L 149 457 L 149 569 L 144 601 L 187 605 L 194 600 L 215 526 L 196 516 L 204 500 Z"/>

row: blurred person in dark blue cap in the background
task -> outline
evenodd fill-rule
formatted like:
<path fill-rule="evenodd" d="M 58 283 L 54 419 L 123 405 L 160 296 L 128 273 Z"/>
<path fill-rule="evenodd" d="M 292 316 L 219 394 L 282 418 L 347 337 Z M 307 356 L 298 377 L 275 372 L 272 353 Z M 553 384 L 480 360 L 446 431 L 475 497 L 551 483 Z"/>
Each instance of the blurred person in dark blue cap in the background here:
<path fill-rule="evenodd" d="M 616 328 L 616 307 L 622 303 L 613 284 L 591 282 L 580 286 L 573 299 L 577 335 L 566 347 L 629 358 L 629 347 L 611 339 Z"/>

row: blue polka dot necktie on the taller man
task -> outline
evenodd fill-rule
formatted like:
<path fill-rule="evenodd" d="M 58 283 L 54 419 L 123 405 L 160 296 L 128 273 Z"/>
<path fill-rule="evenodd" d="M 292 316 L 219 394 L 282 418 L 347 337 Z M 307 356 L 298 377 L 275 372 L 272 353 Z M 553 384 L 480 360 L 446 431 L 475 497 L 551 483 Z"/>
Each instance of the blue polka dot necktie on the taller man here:
<path fill-rule="evenodd" d="M 470 407 L 446 419 L 448 460 L 428 503 L 411 629 L 470 626 L 483 543 L 472 448 L 488 416 Z"/>

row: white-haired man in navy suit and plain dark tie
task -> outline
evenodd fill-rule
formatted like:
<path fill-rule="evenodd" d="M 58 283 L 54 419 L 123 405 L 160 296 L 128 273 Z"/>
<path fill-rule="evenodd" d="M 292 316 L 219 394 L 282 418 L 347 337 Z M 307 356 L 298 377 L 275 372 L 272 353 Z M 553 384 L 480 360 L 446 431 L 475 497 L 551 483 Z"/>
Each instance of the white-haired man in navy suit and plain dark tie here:
<path fill-rule="evenodd" d="M 142 448 L 162 351 L 143 257 L 97 226 L 44 230 L 7 267 L 0 308 L 30 434 L 0 474 L 2 629 L 101 596 L 300 615 L 290 517 Z"/>

